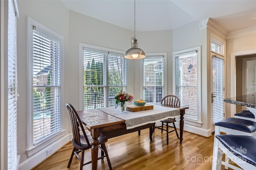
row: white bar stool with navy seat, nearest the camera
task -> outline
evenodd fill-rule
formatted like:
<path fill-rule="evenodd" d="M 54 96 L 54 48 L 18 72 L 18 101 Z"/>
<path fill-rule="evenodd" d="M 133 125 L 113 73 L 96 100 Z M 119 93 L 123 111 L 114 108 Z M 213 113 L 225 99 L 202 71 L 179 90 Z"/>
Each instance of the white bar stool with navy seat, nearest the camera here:
<path fill-rule="evenodd" d="M 244 135 L 216 135 L 213 150 L 212 170 L 220 170 L 222 154 L 245 170 L 256 169 L 256 138 Z M 222 152 L 219 152 L 219 149 Z M 236 166 L 233 169 L 240 169 Z"/>

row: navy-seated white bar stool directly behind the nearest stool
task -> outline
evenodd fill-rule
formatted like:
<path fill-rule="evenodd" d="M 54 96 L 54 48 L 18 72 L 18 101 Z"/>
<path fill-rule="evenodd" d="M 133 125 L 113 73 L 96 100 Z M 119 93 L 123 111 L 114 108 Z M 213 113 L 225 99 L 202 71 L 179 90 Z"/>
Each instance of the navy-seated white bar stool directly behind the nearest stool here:
<path fill-rule="evenodd" d="M 215 123 L 215 132 L 214 135 L 220 135 L 220 132 L 231 134 L 231 135 L 245 135 L 256 137 L 256 122 L 246 119 L 238 119 L 234 117 L 228 117 L 223 121 Z M 214 149 L 218 147 L 218 140 L 214 138 Z M 238 170 L 235 166 L 228 164 L 228 157 L 226 157 L 225 162 L 222 161 L 225 165 L 225 169 L 228 167 Z"/>

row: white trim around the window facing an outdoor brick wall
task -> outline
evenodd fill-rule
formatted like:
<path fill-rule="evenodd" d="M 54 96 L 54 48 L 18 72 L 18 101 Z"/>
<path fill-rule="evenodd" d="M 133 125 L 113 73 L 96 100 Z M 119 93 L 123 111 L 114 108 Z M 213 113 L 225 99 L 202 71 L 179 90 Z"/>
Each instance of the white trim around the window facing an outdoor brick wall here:
<path fill-rule="evenodd" d="M 197 51 L 197 53 L 198 53 L 198 55 L 197 55 L 197 63 L 198 63 L 198 70 L 197 70 L 198 71 L 198 121 L 193 121 L 193 120 L 186 119 L 185 123 L 190 124 L 190 125 L 194 125 L 194 126 L 198 126 L 198 127 L 202 127 L 201 46 L 173 52 L 172 53 L 172 72 L 173 72 L 173 74 L 176 72 L 176 70 L 175 70 L 176 69 L 175 56 L 178 55 L 178 54 L 182 54 L 182 53 L 188 53 L 190 51 Z M 176 95 L 176 90 L 175 89 L 176 89 L 176 80 L 175 80 L 175 76 L 172 76 L 172 91 L 175 93 L 174 95 Z M 179 119 L 177 119 L 177 120 L 179 120 Z"/>

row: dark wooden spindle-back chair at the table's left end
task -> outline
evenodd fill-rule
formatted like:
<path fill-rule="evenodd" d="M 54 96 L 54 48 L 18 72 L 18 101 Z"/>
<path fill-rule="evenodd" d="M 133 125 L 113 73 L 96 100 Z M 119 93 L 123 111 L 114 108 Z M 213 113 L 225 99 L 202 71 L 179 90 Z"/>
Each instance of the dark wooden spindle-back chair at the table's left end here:
<path fill-rule="evenodd" d="M 84 151 L 88 150 L 92 147 L 93 139 L 92 139 L 90 133 L 86 134 L 84 127 L 82 125 L 82 122 L 81 122 L 80 118 L 78 117 L 78 114 L 77 114 L 76 110 L 74 109 L 74 107 L 71 104 L 66 104 L 66 109 L 68 111 L 68 115 L 70 118 L 70 124 L 72 127 L 72 133 L 73 133 L 72 144 L 74 146 L 70 160 L 68 162 L 68 168 L 70 167 L 73 156 L 76 155 L 78 160 L 80 160 L 80 170 L 82 170 L 84 165 L 92 163 L 92 161 L 89 161 L 84 164 Z M 80 126 L 80 128 L 79 128 L 79 126 Z M 80 135 L 80 129 L 82 130 L 82 135 Z M 99 157 L 98 160 L 106 157 L 107 161 L 108 161 L 108 166 L 109 166 L 110 170 L 112 170 L 111 163 L 110 163 L 110 160 L 108 157 L 108 152 L 107 152 L 107 149 L 105 146 L 105 143 L 108 141 L 108 138 L 105 135 L 101 134 L 100 137 L 98 137 L 98 141 L 99 141 L 98 147 L 100 150 L 103 151 L 101 157 Z M 99 146 L 99 145 L 101 145 L 101 146 Z M 80 152 L 81 152 L 81 157 L 78 155 Z M 104 153 L 105 153 L 105 155 L 104 155 Z"/>

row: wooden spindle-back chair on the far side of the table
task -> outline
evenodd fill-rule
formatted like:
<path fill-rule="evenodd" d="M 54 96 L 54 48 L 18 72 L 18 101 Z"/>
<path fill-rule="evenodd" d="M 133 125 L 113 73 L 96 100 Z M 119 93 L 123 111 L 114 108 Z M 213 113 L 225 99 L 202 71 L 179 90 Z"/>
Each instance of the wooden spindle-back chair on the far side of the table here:
<path fill-rule="evenodd" d="M 180 106 L 180 99 L 177 97 L 177 96 L 174 96 L 174 95 L 167 95 L 165 96 L 162 101 L 161 101 L 161 104 L 166 104 L 166 105 L 171 105 L 171 106 Z M 178 116 L 177 116 L 178 117 Z M 178 132 L 177 132 L 177 129 L 176 129 L 176 126 L 174 124 L 174 122 L 176 122 L 176 119 L 175 118 L 169 118 L 169 119 L 165 119 L 165 120 L 162 120 L 162 126 L 155 126 L 154 124 L 154 127 L 153 127 L 153 131 L 155 129 L 161 129 L 161 133 L 163 133 L 163 131 L 166 131 L 166 141 L 167 141 L 167 145 L 168 145 L 168 142 L 169 142 L 169 133 L 175 131 L 176 132 L 176 135 L 179 139 L 179 135 L 178 135 Z M 165 123 L 165 124 L 164 124 Z M 172 123 L 173 127 L 169 125 L 169 123 Z M 166 129 L 164 129 L 164 125 L 166 126 Z M 169 127 L 172 127 L 174 128 L 173 130 L 169 131 Z"/>

